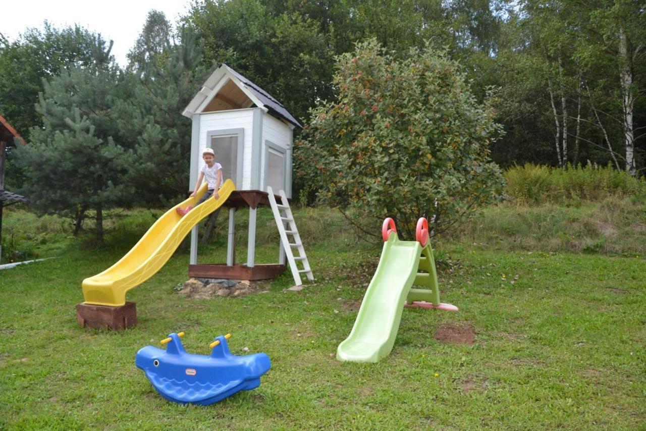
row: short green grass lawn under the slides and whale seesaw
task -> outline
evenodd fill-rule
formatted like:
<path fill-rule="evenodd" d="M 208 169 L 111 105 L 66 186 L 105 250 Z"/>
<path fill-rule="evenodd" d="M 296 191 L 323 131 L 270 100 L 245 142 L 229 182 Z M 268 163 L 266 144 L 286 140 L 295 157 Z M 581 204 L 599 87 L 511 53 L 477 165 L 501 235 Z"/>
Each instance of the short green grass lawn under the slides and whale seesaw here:
<path fill-rule="evenodd" d="M 261 217 L 259 229 L 266 223 Z M 208 300 L 176 293 L 187 279 L 188 255 L 180 250 L 129 292 L 137 326 L 84 330 L 75 317 L 81 280 L 136 240 L 113 235 L 121 234 L 131 239 L 0 271 L 0 428 L 646 426 L 643 257 L 443 239 L 442 300 L 460 311 L 406 309 L 391 354 L 353 364 L 333 356 L 352 328 L 379 246 L 312 231 L 304 240 L 315 284 L 286 291 L 293 280 L 284 274 L 267 283 L 268 293 Z M 259 237 L 267 241 L 257 260 L 275 260 L 274 235 Z M 202 247 L 200 261 L 222 261 L 224 240 L 218 235 Z M 244 262 L 244 247 L 238 252 Z M 440 328 L 472 330 L 474 342 L 440 342 Z M 202 354 L 214 336 L 230 332 L 233 353 L 266 352 L 272 368 L 259 388 L 220 403 L 169 403 L 134 366 L 134 355 L 173 331 L 185 331 L 187 351 Z"/>

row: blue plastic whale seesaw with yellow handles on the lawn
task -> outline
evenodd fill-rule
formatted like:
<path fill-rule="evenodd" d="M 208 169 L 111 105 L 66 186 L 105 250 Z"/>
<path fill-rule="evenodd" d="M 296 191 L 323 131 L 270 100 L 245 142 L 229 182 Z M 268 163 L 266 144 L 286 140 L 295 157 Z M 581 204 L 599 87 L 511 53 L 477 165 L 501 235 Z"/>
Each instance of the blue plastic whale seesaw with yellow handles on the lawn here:
<path fill-rule="evenodd" d="M 161 340 L 167 344 L 166 350 L 145 346 L 135 358 L 152 387 L 174 403 L 207 406 L 241 390 L 255 389 L 260 386 L 260 376 L 271 367 L 266 353 L 231 354 L 227 344 L 231 334 L 220 335 L 209 344 L 213 349 L 210 356 L 187 353 L 180 341 L 183 335 L 173 332 Z"/>

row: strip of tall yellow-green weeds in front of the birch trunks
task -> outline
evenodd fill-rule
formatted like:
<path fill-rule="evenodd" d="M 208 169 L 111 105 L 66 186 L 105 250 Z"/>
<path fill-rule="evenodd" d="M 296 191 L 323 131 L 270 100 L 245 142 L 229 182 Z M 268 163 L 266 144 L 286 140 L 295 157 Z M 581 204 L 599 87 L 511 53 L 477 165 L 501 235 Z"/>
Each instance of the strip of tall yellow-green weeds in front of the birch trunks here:
<path fill-rule="evenodd" d="M 646 197 L 646 181 L 588 163 L 567 169 L 525 163 L 505 172 L 506 193 L 519 204 L 576 205 L 609 197 Z"/>

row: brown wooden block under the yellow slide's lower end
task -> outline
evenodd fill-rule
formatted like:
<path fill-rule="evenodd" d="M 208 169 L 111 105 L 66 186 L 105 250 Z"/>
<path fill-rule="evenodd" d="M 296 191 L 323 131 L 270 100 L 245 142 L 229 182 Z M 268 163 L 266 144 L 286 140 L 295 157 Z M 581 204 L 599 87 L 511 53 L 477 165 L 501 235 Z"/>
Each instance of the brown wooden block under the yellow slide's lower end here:
<path fill-rule="evenodd" d="M 137 308 L 134 302 L 126 302 L 120 307 L 81 302 L 76 306 L 76 320 L 83 328 L 125 330 L 137 324 Z"/>

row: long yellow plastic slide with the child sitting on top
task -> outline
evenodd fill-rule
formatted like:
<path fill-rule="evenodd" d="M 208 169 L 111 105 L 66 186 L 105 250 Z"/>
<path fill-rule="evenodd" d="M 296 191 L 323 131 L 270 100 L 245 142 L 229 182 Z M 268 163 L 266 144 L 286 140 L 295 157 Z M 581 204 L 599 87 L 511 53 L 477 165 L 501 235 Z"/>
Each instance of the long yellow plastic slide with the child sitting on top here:
<path fill-rule="evenodd" d="M 218 191 L 218 199 L 207 199 L 185 216 L 180 216 L 176 208 L 195 205 L 207 191 L 207 184 L 204 184 L 194 198 L 188 198 L 166 211 L 121 260 L 102 273 L 83 280 L 85 304 L 112 307 L 125 304 L 125 293 L 159 271 L 193 226 L 224 204 L 235 189 L 233 181 L 226 180 Z"/>

